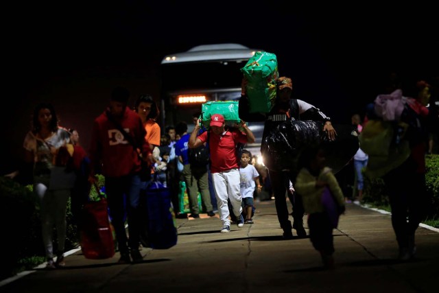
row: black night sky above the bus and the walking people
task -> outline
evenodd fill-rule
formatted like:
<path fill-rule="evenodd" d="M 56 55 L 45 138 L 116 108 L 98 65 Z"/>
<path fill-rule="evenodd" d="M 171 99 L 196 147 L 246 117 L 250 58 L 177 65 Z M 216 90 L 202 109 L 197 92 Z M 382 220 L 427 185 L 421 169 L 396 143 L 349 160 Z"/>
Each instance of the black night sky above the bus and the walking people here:
<path fill-rule="evenodd" d="M 358 3 L 292 10 L 276 1 L 138 2 L 3 7 L 3 173 L 19 160 L 38 102 L 53 103 L 60 125 L 77 128 L 87 150 L 93 119 L 113 87 L 129 89 L 130 105 L 141 93 L 158 99 L 163 56 L 196 45 L 240 43 L 276 54 L 280 75 L 293 79 L 293 95 L 346 124 L 353 113 L 364 114 L 391 71 L 407 95 L 416 80 L 438 75 L 437 16 L 419 1 L 392 10 Z"/>

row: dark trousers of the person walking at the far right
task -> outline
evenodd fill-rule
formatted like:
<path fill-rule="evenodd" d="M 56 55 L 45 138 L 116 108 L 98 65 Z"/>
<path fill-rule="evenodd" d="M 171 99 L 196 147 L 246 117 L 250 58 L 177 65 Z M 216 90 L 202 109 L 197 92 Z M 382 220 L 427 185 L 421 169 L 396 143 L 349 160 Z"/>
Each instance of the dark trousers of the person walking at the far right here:
<path fill-rule="evenodd" d="M 392 226 L 399 248 L 414 245 L 414 233 L 429 207 L 425 174 L 416 173 L 410 156 L 384 177 L 392 209 Z"/>

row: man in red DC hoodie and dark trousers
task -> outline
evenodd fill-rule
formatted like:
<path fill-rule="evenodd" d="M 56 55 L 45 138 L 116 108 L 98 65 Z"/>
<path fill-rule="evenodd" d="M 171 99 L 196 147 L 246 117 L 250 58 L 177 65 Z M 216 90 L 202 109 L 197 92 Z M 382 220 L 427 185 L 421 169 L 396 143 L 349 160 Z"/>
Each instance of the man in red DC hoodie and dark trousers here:
<path fill-rule="evenodd" d="M 140 218 L 139 194 L 141 188 L 141 157 L 149 162 L 152 152 L 145 140 L 145 128 L 137 113 L 127 107 L 130 93 L 123 87 L 113 89 L 110 105 L 94 121 L 91 139 L 91 176 L 95 167 L 102 168 L 108 207 L 115 227 L 121 258 L 119 263 L 130 263 L 127 236 L 123 221 L 124 194 L 127 196 L 128 234 L 131 257 L 142 260 L 139 253 Z M 125 132 L 125 133 L 124 133 Z"/>

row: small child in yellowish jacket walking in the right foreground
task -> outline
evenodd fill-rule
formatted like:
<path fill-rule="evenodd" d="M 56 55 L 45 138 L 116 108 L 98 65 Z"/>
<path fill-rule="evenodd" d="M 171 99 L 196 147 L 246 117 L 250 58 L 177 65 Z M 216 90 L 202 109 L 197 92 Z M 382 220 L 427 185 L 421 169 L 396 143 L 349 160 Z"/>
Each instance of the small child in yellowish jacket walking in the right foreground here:
<path fill-rule="evenodd" d="M 344 213 L 344 195 L 337 179 L 326 166 L 325 154 L 321 146 L 314 146 L 302 152 L 301 169 L 294 188 L 302 196 L 305 212 L 308 213 L 309 238 L 313 247 L 320 252 L 324 268 L 334 267 L 333 228 L 337 227 L 338 217 Z M 325 189 L 331 192 L 335 215 L 329 213 L 322 196 Z M 335 218 L 335 219 L 334 219 Z"/>

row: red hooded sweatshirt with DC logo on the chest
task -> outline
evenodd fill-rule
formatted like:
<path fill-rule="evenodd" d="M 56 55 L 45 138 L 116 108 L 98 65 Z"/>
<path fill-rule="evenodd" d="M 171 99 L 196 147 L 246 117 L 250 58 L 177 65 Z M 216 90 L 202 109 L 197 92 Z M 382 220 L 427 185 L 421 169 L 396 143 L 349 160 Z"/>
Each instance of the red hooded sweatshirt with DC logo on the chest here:
<path fill-rule="evenodd" d="M 140 116 L 130 108 L 125 109 L 123 117 L 115 117 L 122 128 L 132 137 L 137 148 L 141 149 L 143 158 L 151 154 L 145 140 Z M 90 159 L 92 166 L 102 163 L 102 175 L 121 177 L 141 170 L 141 161 L 131 143 L 124 139 L 117 126 L 108 119 L 106 111 L 99 115 L 93 124 Z"/>

